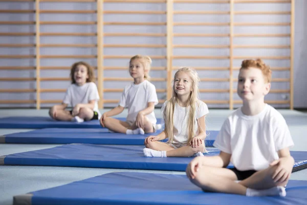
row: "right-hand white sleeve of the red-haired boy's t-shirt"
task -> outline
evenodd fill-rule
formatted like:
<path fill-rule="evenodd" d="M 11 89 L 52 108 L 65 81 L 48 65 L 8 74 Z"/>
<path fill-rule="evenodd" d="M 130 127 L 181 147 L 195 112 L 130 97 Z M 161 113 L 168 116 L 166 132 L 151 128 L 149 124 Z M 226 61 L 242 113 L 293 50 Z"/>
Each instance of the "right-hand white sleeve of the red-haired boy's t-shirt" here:
<path fill-rule="evenodd" d="M 273 120 L 273 137 L 276 151 L 294 146 L 287 122 L 282 115 Z"/>

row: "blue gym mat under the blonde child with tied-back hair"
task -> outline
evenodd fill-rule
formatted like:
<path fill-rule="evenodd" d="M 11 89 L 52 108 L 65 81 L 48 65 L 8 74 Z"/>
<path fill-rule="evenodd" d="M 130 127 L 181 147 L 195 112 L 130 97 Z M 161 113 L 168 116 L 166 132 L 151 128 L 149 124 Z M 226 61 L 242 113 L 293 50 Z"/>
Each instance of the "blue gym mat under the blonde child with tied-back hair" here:
<path fill-rule="evenodd" d="M 19 132 L 0 136 L 0 143 L 14 144 L 98 144 L 98 145 L 144 145 L 144 139 L 149 135 L 126 135 L 110 133 L 107 129 L 80 128 L 45 128 L 29 132 Z M 218 131 L 207 131 L 206 147 L 212 147 Z M 164 141 L 167 141 L 165 139 Z"/>

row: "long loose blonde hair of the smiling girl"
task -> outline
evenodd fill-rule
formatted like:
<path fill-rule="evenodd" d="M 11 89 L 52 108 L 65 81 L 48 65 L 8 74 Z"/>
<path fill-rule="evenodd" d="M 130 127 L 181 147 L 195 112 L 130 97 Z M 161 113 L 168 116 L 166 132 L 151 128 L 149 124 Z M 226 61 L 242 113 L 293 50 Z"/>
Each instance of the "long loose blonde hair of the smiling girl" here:
<path fill-rule="evenodd" d="M 194 137 L 194 119 L 195 119 L 195 110 L 196 110 L 196 105 L 198 103 L 199 97 L 199 82 L 200 78 L 198 76 L 198 73 L 191 68 L 180 68 L 174 75 L 174 79 L 176 79 L 176 75 L 179 72 L 186 72 L 191 80 L 192 80 L 192 85 L 191 85 L 191 94 L 188 98 L 187 104 L 190 106 L 189 114 L 188 114 L 188 142 Z M 164 107 L 163 110 L 163 118 L 165 121 L 165 132 L 166 136 L 168 137 L 168 143 L 172 143 L 173 141 L 173 115 L 174 115 L 174 109 L 175 109 L 175 104 L 178 103 L 178 97 L 177 93 L 174 91 L 174 81 L 172 82 L 172 97 L 167 101 L 166 106 Z"/>

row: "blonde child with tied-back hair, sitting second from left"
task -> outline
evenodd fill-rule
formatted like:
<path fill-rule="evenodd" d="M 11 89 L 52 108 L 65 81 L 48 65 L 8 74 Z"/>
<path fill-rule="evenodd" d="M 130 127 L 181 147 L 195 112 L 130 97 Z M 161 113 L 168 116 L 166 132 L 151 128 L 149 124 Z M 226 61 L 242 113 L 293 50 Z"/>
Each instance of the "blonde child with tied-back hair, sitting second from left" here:
<path fill-rule="evenodd" d="M 102 127 L 108 128 L 111 132 L 126 134 L 153 133 L 161 129 L 157 125 L 157 119 L 153 110 L 158 104 L 156 87 L 148 79 L 151 65 L 149 56 L 135 55 L 129 62 L 129 73 L 134 82 L 128 84 L 120 98 L 119 105 L 103 113 L 100 118 Z M 126 121 L 111 118 L 120 114 L 124 108 L 128 108 Z"/>

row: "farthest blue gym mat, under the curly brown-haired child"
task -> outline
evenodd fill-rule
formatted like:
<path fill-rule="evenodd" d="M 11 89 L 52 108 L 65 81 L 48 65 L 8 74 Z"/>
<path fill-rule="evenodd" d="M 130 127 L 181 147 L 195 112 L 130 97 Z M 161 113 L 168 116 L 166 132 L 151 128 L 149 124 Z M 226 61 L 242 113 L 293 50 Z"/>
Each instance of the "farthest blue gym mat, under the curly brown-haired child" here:
<path fill-rule="evenodd" d="M 117 117 L 125 121 L 126 118 Z M 161 123 L 161 119 L 157 119 Z M 57 121 L 51 117 L 4 117 L 0 118 L 0 128 L 6 129 L 41 129 L 41 128 L 102 128 L 99 120 L 84 121 Z M 102 128 L 103 129 L 103 128 Z"/>

